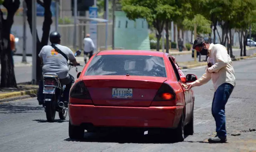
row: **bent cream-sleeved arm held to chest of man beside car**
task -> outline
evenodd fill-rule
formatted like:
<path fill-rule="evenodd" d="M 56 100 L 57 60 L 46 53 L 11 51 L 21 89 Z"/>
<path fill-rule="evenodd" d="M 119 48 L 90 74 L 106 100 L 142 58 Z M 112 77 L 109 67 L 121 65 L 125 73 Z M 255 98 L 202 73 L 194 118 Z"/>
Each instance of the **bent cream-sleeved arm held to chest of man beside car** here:
<path fill-rule="evenodd" d="M 228 64 L 228 52 L 224 47 L 219 47 L 216 49 L 216 60 L 217 63 L 212 65 L 210 68 L 208 68 L 208 71 L 210 73 L 212 72 L 218 72 L 219 69 L 223 68 Z"/>

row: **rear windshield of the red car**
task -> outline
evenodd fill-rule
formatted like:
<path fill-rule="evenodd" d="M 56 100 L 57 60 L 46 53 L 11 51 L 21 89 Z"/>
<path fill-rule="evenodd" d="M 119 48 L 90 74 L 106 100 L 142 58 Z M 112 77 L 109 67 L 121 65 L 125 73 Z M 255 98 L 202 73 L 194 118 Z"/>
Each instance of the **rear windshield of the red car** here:
<path fill-rule="evenodd" d="M 166 77 L 164 59 L 150 55 L 97 55 L 85 76 L 126 75 Z"/>

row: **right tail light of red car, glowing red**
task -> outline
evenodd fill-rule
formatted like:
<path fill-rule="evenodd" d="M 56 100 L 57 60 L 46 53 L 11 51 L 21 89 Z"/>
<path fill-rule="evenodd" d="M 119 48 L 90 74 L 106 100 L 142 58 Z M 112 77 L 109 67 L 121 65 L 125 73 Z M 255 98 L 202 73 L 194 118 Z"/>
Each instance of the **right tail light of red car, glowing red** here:
<path fill-rule="evenodd" d="M 153 101 L 171 101 L 175 98 L 176 94 L 173 88 L 169 84 L 163 83 L 157 91 L 157 94 L 154 97 Z"/>

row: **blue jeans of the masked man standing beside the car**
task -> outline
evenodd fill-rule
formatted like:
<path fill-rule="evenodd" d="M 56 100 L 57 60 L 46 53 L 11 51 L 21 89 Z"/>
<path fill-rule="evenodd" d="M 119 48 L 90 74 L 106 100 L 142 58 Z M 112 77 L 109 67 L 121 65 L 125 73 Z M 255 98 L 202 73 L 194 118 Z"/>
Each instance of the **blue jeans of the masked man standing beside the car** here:
<path fill-rule="evenodd" d="M 226 116 L 225 105 L 228 102 L 234 86 L 230 83 L 223 83 L 217 88 L 212 100 L 212 116 L 216 122 L 216 133 L 218 137 L 226 137 Z"/>

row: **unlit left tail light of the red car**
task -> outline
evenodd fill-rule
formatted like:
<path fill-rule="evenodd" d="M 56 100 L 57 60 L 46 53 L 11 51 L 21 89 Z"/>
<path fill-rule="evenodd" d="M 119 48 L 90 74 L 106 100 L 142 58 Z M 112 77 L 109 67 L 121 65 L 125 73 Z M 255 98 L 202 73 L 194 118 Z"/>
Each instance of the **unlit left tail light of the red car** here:
<path fill-rule="evenodd" d="M 85 87 L 83 81 L 79 81 L 74 85 L 70 91 L 70 97 L 79 99 L 91 99 L 91 95 L 89 94 L 89 91 Z"/>

